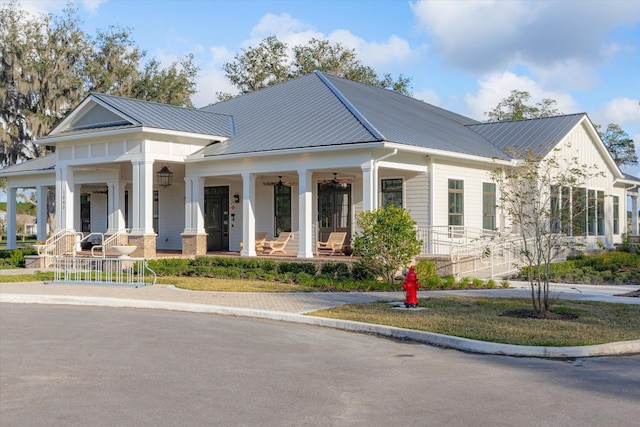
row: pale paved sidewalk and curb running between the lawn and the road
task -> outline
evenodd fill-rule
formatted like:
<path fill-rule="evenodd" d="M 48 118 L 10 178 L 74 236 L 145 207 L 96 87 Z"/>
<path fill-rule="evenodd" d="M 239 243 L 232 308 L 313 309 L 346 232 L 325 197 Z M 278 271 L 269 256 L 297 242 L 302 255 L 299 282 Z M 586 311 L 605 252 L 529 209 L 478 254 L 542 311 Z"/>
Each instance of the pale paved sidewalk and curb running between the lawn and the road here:
<path fill-rule="evenodd" d="M 20 272 L 26 273 L 24 270 L 20 270 Z M 419 298 L 443 295 L 524 298 L 529 296 L 530 291 L 527 283 L 511 282 L 511 285 L 512 287 L 508 289 L 420 291 L 418 296 Z M 637 289 L 638 286 L 554 284 L 552 286 L 552 296 L 564 299 L 640 304 L 640 298 L 615 296 Z M 249 316 L 333 327 L 354 332 L 374 333 L 485 354 L 574 358 L 640 353 L 640 340 L 580 347 L 515 346 L 305 315 L 305 313 L 315 310 L 343 304 L 379 300 L 402 301 L 403 299 L 402 292 L 206 292 L 186 291 L 172 285 L 162 284 L 133 288 L 101 285 L 45 285 L 43 282 L 2 283 L 2 274 L 0 273 L 0 303 L 93 305 Z"/>

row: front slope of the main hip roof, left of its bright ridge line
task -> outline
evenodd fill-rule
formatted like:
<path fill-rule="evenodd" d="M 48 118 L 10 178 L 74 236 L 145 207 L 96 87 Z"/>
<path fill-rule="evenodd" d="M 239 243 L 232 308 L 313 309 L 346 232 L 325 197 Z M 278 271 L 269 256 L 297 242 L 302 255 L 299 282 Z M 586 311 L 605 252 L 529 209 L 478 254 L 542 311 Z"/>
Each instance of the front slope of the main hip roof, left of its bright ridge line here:
<path fill-rule="evenodd" d="M 232 115 L 235 136 L 198 155 L 252 153 L 379 141 L 316 74 L 209 105 Z"/>

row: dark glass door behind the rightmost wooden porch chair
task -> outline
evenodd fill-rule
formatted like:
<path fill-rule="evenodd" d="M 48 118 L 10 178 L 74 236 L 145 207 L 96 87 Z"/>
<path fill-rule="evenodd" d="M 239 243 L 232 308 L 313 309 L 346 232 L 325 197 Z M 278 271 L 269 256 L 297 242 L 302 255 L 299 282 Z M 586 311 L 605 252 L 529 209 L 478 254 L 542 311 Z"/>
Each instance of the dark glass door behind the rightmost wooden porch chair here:
<path fill-rule="evenodd" d="M 326 242 L 334 231 L 347 233 L 351 241 L 351 184 L 318 184 L 318 238 Z"/>

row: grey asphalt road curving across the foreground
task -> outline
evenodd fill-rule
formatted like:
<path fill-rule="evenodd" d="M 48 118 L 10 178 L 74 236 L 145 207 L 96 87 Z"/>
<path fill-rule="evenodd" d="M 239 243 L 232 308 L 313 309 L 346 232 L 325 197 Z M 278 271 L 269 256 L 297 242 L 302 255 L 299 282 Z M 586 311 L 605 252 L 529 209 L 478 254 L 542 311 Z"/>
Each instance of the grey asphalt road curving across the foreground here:
<path fill-rule="evenodd" d="M 251 318 L 0 304 L 3 427 L 638 420 L 640 356 L 486 356 Z"/>

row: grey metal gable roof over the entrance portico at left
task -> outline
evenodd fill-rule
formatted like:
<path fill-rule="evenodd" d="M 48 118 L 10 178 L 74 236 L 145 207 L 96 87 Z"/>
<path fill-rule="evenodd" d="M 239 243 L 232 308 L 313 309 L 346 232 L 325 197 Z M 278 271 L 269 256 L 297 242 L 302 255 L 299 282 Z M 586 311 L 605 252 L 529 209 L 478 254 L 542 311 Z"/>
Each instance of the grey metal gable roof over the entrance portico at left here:
<path fill-rule="evenodd" d="M 103 104 L 112 111 L 119 113 L 134 126 L 214 136 L 228 137 L 232 135 L 233 119 L 229 116 L 195 108 L 178 107 L 101 93 L 91 93 L 89 99 L 94 99 L 99 104 Z M 122 127 L 122 123 L 117 125 Z M 100 129 L 107 130 L 112 129 L 112 127 L 94 128 L 94 130 Z M 74 132 L 77 132 L 77 130 L 68 129 L 55 136 Z"/>

